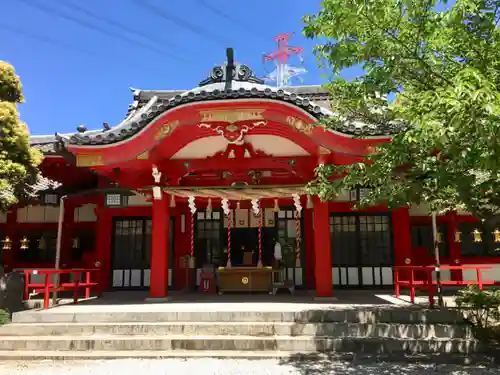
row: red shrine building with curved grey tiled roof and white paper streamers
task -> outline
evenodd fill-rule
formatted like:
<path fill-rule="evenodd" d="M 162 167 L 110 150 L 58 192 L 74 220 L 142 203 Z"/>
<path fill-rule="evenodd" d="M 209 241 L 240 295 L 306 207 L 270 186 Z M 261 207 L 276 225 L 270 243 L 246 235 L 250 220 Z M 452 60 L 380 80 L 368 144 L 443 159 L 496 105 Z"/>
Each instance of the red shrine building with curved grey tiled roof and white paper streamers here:
<path fill-rule="evenodd" d="M 355 211 L 363 189 L 330 202 L 306 194 L 318 165 L 363 161 L 398 131 L 316 127 L 329 108 L 320 86 L 267 86 L 229 61 L 192 90 L 134 90 L 116 126 L 31 136 L 47 184 L 0 213 L 5 268 L 98 268 L 102 291 L 163 298 L 198 290 L 211 267 L 224 291 L 252 291 L 267 288 L 279 242 L 295 288 L 391 287 L 393 266 L 433 264 L 430 213 Z M 441 262 L 492 265 L 484 278 L 500 281 L 500 232 L 478 228 L 468 213 L 438 217 Z M 443 277 L 475 279 L 467 272 Z"/>

